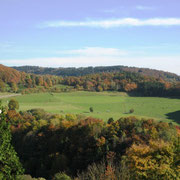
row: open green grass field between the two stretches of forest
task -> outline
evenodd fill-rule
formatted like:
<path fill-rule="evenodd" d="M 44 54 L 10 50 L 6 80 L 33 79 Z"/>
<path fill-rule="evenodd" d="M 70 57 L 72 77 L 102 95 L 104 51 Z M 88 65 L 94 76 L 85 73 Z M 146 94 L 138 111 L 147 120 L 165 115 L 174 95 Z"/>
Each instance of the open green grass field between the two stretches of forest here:
<path fill-rule="evenodd" d="M 120 92 L 39 93 L 14 98 L 19 101 L 20 110 L 43 108 L 52 113 L 81 113 L 104 120 L 137 116 L 180 123 L 180 99 L 129 97 Z M 3 104 L 7 105 L 9 99 L 2 99 Z M 89 107 L 93 107 L 93 113 L 89 112 Z M 134 113 L 129 114 L 131 108 Z"/>

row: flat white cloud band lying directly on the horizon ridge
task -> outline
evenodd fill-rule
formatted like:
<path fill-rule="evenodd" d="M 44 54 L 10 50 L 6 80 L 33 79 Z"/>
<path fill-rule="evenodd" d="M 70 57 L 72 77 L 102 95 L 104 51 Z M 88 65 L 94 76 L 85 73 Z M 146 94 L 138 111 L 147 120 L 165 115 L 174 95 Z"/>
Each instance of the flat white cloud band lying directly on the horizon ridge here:
<path fill-rule="evenodd" d="M 174 72 L 180 75 L 180 56 L 153 56 L 153 57 L 105 57 L 105 56 L 78 56 L 78 57 L 50 57 L 32 59 L 0 60 L 1 64 L 8 66 L 33 65 L 43 67 L 87 67 L 125 65 L 146 67 Z"/>

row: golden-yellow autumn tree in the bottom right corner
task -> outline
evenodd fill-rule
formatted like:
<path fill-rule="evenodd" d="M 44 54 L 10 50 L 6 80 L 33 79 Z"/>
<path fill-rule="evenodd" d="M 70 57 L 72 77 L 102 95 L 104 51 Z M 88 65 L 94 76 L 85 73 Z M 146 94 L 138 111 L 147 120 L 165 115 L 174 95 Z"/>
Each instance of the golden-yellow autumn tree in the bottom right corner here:
<path fill-rule="evenodd" d="M 133 144 L 127 151 L 126 163 L 135 179 L 178 179 L 174 153 L 173 144 L 162 140 Z"/>

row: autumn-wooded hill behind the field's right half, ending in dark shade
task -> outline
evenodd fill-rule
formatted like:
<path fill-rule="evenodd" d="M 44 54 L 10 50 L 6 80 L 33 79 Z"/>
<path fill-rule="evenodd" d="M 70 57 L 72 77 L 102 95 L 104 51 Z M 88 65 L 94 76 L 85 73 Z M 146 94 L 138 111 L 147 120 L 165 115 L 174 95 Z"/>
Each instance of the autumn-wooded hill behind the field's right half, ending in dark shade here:
<path fill-rule="evenodd" d="M 65 77 L 62 83 L 78 90 L 135 92 L 140 96 L 180 96 L 180 82 L 170 83 L 162 78 L 132 72 L 71 76 Z"/>

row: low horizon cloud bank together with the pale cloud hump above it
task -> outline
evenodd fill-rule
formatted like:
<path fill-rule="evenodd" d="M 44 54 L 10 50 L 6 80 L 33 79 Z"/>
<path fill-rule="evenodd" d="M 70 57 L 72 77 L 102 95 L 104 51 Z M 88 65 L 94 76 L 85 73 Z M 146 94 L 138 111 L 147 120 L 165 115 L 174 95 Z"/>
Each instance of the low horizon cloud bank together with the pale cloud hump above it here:
<path fill-rule="evenodd" d="M 165 45 L 164 45 L 165 46 Z M 147 47 L 155 48 L 157 47 Z M 140 50 L 123 50 L 105 47 L 84 47 L 80 49 L 54 51 L 54 56 L 22 59 L 0 59 L 8 66 L 36 65 L 45 67 L 87 67 L 125 65 L 170 71 L 179 74 L 180 56 L 149 55 Z"/>

